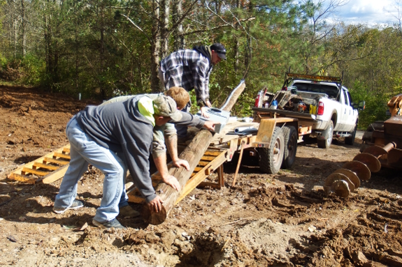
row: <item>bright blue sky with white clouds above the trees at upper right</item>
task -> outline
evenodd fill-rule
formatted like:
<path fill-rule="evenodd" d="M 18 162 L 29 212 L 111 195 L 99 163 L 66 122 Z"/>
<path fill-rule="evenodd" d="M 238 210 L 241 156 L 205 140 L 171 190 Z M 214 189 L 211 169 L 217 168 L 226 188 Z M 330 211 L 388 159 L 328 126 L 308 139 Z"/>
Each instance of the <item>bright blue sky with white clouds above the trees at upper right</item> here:
<path fill-rule="evenodd" d="M 329 1 L 329 0 L 326 0 Z M 338 7 L 336 15 L 332 15 L 333 19 L 345 24 L 389 24 L 398 22 L 397 9 L 398 0 L 350 0 L 345 6 Z M 402 13 L 402 1 L 399 6 Z"/>

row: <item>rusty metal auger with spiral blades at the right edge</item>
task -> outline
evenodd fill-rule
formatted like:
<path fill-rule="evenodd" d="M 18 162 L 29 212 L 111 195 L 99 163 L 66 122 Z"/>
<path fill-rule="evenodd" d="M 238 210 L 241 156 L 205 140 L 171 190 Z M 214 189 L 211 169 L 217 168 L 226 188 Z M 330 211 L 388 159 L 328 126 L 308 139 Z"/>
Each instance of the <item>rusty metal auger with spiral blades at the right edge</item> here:
<path fill-rule="evenodd" d="M 391 118 L 368 126 L 361 153 L 326 178 L 326 194 L 332 191 L 347 197 L 359 188 L 360 181 L 371 177 L 371 172 L 380 171 L 381 167 L 402 169 L 402 95 L 389 100 L 388 107 Z"/>

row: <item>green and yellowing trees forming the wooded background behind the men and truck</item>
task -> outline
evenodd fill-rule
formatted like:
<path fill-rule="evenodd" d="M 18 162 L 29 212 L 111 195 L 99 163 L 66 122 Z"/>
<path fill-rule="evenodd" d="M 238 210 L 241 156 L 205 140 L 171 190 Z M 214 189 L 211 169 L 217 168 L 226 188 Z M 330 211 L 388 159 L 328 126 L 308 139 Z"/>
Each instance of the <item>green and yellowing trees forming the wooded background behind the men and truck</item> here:
<path fill-rule="evenodd" d="M 161 15 L 163 7 L 155 5 L 165 2 L 25 2 L 29 24 L 23 47 L 22 24 L 13 24 L 22 22 L 20 5 L 12 1 L 4 5 L 6 1 L 0 0 L 1 77 L 73 96 L 81 93 L 82 98 L 150 93 L 157 61 L 175 50 L 174 1 L 169 2 L 167 47 L 161 31 L 155 33 L 164 20 L 155 17 L 154 8 Z M 329 25 L 323 18 L 332 9 L 322 3 L 184 1 L 183 10 L 189 10 L 182 20 L 185 48 L 215 42 L 227 47 L 227 61 L 214 66 L 210 75 L 213 106 L 221 105 L 245 78 L 245 90 L 232 114 L 251 116 L 257 92 L 264 87 L 271 92 L 280 90 L 291 66 L 295 73 L 340 76 L 344 72 L 343 84 L 354 102 L 366 101 L 359 127 L 385 119 L 387 101 L 402 92 L 399 25 Z M 159 49 L 155 49 L 157 45 Z M 194 93 L 191 98 L 196 112 Z"/>

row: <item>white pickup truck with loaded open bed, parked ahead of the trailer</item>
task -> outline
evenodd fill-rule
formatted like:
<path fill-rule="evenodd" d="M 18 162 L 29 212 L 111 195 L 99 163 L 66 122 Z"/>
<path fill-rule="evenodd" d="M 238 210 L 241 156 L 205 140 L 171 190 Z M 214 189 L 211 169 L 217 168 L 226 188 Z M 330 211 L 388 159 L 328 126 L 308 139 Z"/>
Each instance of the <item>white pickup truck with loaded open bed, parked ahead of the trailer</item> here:
<path fill-rule="evenodd" d="M 329 148 L 333 135 L 345 137 L 345 144 L 354 144 L 357 109 L 363 108 L 363 101 L 354 105 L 341 78 L 286 73 L 282 91 L 260 91 L 253 109 L 260 118 L 261 114 L 275 114 L 298 119 L 299 137 L 317 137 L 317 146 Z"/>

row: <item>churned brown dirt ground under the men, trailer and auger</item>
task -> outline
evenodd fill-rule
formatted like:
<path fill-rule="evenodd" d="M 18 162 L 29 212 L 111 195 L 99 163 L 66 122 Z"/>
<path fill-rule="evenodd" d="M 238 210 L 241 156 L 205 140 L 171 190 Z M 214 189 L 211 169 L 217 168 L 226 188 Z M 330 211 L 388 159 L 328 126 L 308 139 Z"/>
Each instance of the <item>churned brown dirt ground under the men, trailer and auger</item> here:
<path fill-rule="evenodd" d="M 324 194 L 324 179 L 359 153 L 359 139 L 327 150 L 301 143 L 292 169 L 275 175 L 245 156 L 234 187 L 237 162 L 227 162 L 225 188 L 193 190 L 157 226 L 118 217 L 127 229 L 94 227 L 103 180 L 94 168 L 78 185 L 85 207 L 53 213 L 61 179 L 6 177 L 68 144 L 67 121 L 89 104 L 97 103 L 0 87 L 0 266 L 402 266 L 400 171 L 372 174 L 347 199 Z"/>

